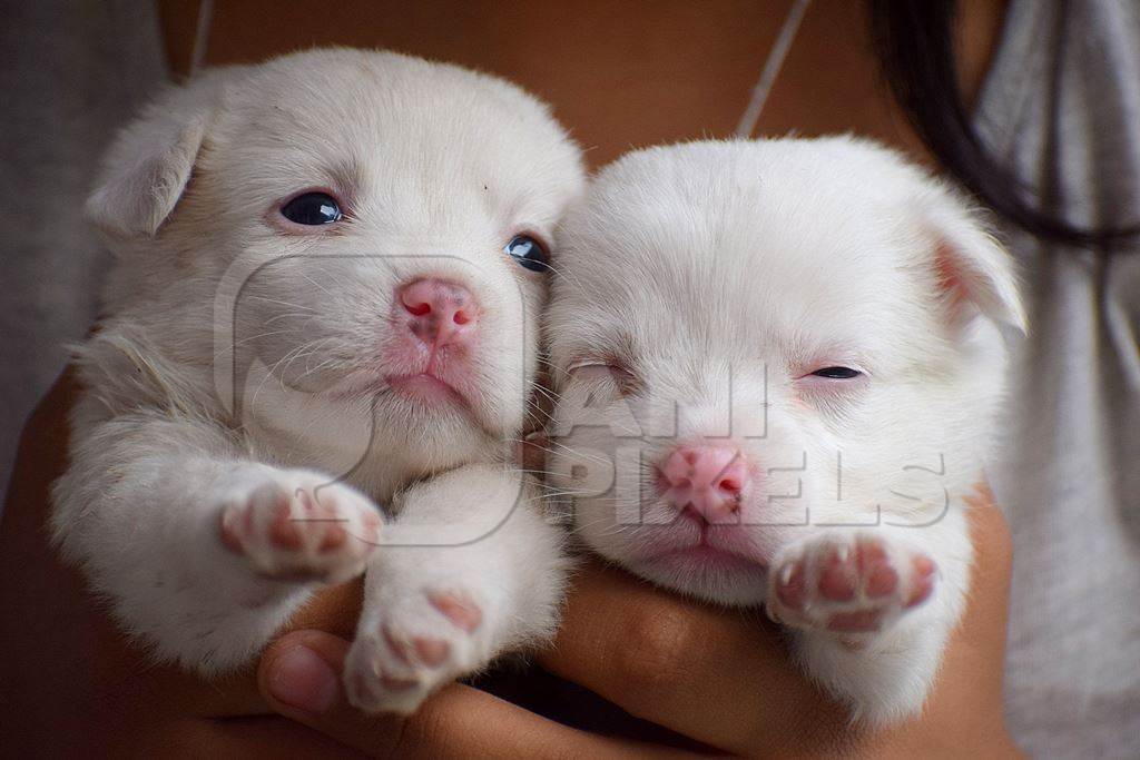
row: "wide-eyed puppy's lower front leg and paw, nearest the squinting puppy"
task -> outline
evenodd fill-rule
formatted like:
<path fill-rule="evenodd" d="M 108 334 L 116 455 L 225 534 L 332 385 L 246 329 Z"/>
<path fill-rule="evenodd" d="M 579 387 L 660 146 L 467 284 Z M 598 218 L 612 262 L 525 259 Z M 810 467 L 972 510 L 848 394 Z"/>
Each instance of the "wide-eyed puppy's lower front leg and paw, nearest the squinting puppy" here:
<path fill-rule="evenodd" d="M 385 530 L 404 545 L 368 563 L 344 671 L 353 704 L 412 712 L 437 687 L 553 632 L 568 563 L 537 497 L 518 473 L 478 465 L 407 495 Z"/>

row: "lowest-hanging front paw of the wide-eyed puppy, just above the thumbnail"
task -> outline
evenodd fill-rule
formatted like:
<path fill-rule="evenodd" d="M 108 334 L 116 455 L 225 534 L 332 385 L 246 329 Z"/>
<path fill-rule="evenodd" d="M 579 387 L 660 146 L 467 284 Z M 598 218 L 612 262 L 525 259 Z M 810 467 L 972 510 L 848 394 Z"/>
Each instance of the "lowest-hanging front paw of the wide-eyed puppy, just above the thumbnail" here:
<path fill-rule="evenodd" d="M 349 701 L 366 712 L 410 714 L 494 654 L 487 605 L 469 591 L 394 594 L 375 610 L 366 612 L 344 664 Z"/>

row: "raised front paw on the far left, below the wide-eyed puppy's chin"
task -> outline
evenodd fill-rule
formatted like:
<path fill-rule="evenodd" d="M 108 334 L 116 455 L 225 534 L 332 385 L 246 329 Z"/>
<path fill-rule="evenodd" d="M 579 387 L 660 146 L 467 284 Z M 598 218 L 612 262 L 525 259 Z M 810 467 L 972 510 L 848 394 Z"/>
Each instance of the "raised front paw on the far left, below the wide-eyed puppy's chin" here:
<path fill-rule="evenodd" d="M 269 578 L 349 580 L 380 540 L 372 501 L 317 473 L 256 473 L 228 484 L 221 501 L 222 545 Z"/>

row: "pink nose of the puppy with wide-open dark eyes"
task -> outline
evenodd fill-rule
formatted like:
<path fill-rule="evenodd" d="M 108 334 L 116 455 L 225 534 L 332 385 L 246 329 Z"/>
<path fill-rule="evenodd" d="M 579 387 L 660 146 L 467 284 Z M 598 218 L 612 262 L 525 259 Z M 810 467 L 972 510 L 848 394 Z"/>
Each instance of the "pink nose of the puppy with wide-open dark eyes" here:
<path fill-rule="evenodd" d="M 439 279 L 418 279 L 397 292 L 397 318 L 429 345 L 464 343 L 474 337 L 479 304 L 466 288 Z"/>

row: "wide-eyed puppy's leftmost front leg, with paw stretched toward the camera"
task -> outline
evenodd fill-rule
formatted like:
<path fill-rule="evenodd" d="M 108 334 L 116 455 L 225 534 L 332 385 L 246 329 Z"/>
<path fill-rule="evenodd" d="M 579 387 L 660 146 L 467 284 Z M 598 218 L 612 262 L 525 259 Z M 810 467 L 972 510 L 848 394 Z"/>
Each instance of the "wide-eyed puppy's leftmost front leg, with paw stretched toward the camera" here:
<path fill-rule="evenodd" d="M 368 499 L 243 459 L 206 420 L 122 416 L 74 443 L 56 539 L 160 660 L 203 673 L 246 662 L 312 581 L 358 574 L 376 544 Z"/>

